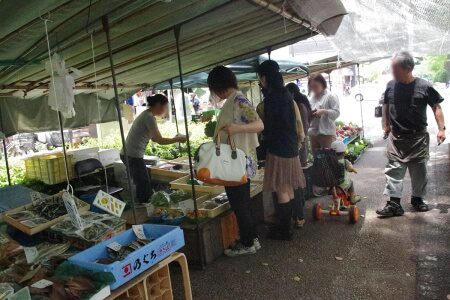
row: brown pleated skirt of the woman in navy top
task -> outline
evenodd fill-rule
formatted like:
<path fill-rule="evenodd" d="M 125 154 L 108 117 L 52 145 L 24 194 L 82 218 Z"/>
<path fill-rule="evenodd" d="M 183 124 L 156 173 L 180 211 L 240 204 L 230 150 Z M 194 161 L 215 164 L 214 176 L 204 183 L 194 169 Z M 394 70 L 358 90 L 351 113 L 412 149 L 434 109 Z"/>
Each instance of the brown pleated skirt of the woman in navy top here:
<path fill-rule="evenodd" d="M 298 156 L 284 158 L 267 153 L 264 169 L 265 192 L 284 192 L 286 189 L 296 190 L 305 186 L 305 176 Z"/>

